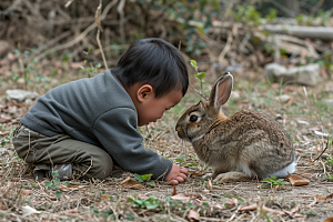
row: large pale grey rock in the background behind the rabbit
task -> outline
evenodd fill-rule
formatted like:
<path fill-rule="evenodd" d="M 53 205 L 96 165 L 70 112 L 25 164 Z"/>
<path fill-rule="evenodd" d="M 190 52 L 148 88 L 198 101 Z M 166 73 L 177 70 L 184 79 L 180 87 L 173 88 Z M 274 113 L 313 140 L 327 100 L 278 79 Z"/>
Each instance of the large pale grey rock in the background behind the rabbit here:
<path fill-rule="evenodd" d="M 279 63 L 265 65 L 265 72 L 271 82 L 280 82 L 283 78 L 285 83 L 300 83 L 315 87 L 320 75 L 320 65 L 311 63 L 302 67 L 286 68 Z"/>

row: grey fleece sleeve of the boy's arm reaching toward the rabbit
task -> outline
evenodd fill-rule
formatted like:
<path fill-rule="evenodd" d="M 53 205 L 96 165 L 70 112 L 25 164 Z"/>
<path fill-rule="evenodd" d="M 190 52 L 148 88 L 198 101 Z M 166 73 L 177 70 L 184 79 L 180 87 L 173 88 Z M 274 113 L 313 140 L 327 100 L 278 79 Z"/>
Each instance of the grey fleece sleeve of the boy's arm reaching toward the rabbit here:
<path fill-rule="evenodd" d="M 130 108 L 115 108 L 101 114 L 93 124 L 93 133 L 105 151 L 124 170 L 138 174 L 152 174 L 163 181 L 172 162 L 152 150 L 145 150 L 137 129 L 137 112 Z"/>

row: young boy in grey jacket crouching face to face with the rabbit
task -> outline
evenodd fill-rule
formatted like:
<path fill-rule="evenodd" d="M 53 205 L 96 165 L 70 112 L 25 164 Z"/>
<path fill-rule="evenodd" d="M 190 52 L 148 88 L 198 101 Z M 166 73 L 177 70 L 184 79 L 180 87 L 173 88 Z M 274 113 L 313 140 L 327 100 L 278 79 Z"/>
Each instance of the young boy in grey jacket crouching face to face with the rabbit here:
<path fill-rule="evenodd" d="M 169 184 L 188 171 L 142 145 L 142 127 L 178 104 L 189 79 L 179 50 L 162 39 L 135 41 L 118 65 L 94 78 L 57 87 L 40 97 L 13 135 L 18 155 L 60 180 L 105 179 L 114 164 Z"/>

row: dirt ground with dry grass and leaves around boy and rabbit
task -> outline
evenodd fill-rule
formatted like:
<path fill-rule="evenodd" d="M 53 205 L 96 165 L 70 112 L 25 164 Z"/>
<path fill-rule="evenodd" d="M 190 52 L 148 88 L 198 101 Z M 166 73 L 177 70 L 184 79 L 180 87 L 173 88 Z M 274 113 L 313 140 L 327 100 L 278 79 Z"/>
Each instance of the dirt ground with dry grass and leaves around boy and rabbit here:
<path fill-rule="evenodd" d="M 51 181 L 52 190 L 47 183 L 50 181 L 36 182 L 31 170 L 13 152 L 10 135 L 29 105 L 8 100 L 4 90 L 17 85 L 2 83 L 0 221 L 324 221 L 333 218 L 333 180 L 329 179 L 333 162 L 325 160 L 332 158 L 333 147 L 327 147 L 324 159 L 315 160 L 331 140 L 317 132 L 327 133 L 333 127 L 333 108 L 322 102 L 333 98 L 332 80 L 322 78 L 319 87 L 305 88 L 309 97 L 304 95 L 303 87 L 285 85 L 282 92 L 291 97 L 281 102 L 275 100 L 279 84 L 268 84 L 261 74 L 249 87 L 249 74 L 235 75 L 234 91 L 240 98 L 225 107 L 225 113 L 254 109 L 276 119 L 290 133 L 296 150 L 294 174 L 307 179 L 309 184 L 261 188 L 263 182 L 256 180 L 215 184 L 202 179 L 212 169 L 202 164 L 191 144 L 181 141 L 173 130 L 181 113 L 200 99 L 189 90 L 173 111 L 141 129 L 148 149 L 189 170 L 184 183 L 175 188 L 161 183 L 152 186 L 138 182 L 132 173 L 118 170 L 104 181 Z M 40 94 L 43 92 L 40 90 Z M 131 181 L 124 182 L 129 176 Z M 290 181 L 284 179 L 284 182 Z"/>

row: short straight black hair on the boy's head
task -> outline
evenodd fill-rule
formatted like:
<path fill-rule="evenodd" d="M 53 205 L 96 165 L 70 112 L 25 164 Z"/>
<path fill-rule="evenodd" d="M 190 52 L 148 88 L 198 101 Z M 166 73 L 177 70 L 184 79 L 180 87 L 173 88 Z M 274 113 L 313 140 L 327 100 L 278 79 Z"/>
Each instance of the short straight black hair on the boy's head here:
<path fill-rule="evenodd" d="M 188 70 L 180 51 L 158 38 L 134 41 L 111 71 L 128 88 L 137 82 L 151 84 L 155 98 L 174 89 L 184 95 L 189 87 Z"/>

